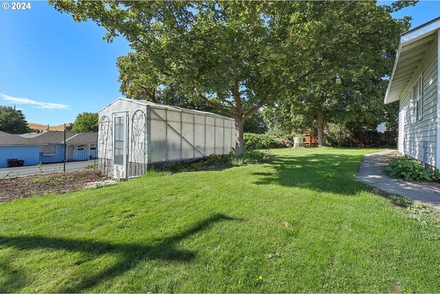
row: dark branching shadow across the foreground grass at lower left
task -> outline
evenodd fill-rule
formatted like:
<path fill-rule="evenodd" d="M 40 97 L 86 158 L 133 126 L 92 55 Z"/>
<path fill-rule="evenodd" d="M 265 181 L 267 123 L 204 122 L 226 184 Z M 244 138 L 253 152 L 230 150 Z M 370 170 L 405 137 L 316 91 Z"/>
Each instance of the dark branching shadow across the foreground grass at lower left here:
<path fill-rule="evenodd" d="M 141 244 L 112 244 L 111 242 L 49 238 L 45 236 L 0 236 L 0 245 L 3 245 L 3 247 L 14 247 L 20 250 L 43 248 L 80 251 L 90 254 L 91 256 L 100 256 L 109 253 L 121 256 L 118 262 L 113 264 L 113 266 L 94 275 L 79 278 L 76 284 L 62 286 L 61 289 L 56 290 L 56 292 L 60 293 L 78 293 L 128 271 L 135 267 L 137 263 L 142 262 L 145 259 L 190 262 L 195 258 L 195 252 L 176 249 L 176 243 L 188 238 L 192 234 L 197 234 L 199 231 L 208 229 L 212 224 L 223 220 L 239 219 L 225 216 L 223 214 L 215 214 L 180 234 L 160 239 L 159 243 L 153 246 Z M 7 264 L 0 264 L 0 267 L 3 268 L 3 271 L 7 272 L 6 274 L 8 275 L 8 278 L 6 278 L 6 284 L 3 284 L 3 286 L 0 287 L 0 292 L 14 292 L 25 286 L 17 283 L 17 277 L 21 276 L 21 273 L 18 271 L 12 271 Z M 73 279 L 71 279 L 71 281 L 72 280 Z"/>

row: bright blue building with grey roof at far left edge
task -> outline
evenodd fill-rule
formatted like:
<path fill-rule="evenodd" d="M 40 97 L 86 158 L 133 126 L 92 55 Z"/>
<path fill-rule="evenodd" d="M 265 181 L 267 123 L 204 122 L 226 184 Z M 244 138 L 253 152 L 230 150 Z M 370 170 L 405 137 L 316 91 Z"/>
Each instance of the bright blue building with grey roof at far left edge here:
<path fill-rule="evenodd" d="M 40 143 L 0 131 L 0 168 L 8 168 L 8 159 L 23 160 L 24 166 L 39 164 Z"/>

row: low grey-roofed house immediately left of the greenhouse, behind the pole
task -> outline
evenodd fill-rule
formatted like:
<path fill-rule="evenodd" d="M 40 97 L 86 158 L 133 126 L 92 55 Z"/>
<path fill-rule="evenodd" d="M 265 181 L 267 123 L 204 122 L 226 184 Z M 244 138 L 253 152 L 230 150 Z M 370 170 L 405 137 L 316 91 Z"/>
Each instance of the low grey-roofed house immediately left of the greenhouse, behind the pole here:
<path fill-rule="evenodd" d="M 64 132 L 48 131 L 20 135 L 40 143 L 39 161 L 41 163 L 62 162 L 64 159 Z M 81 161 L 96 158 L 98 133 L 66 132 L 67 161 Z"/>

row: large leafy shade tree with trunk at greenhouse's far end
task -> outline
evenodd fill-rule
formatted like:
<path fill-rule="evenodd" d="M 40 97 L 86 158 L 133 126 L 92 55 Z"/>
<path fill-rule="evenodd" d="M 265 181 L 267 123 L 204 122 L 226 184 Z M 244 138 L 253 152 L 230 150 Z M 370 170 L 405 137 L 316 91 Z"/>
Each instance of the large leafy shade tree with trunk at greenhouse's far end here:
<path fill-rule="evenodd" d="M 96 21 L 107 41 L 119 35 L 129 41 L 134 53 L 118 61 L 127 93 L 153 101 L 157 89 L 175 85 L 234 118 L 238 154 L 244 122 L 262 106 L 295 93 L 312 74 L 371 59 L 369 50 L 382 44 L 369 41 L 395 42 L 400 32 L 390 11 L 374 2 L 50 3 L 75 21 Z"/>

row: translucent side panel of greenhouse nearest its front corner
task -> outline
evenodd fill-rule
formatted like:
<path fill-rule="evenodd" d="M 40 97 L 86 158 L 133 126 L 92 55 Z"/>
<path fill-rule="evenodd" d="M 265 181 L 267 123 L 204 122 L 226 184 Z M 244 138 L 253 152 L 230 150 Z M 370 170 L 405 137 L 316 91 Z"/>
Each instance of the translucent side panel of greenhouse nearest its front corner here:
<path fill-rule="evenodd" d="M 153 110 L 151 111 L 153 114 Z M 153 117 L 153 115 L 152 115 Z M 151 120 L 151 142 L 148 142 L 148 155 L 151 162 L 166 160 L 166 122 Z"/>

